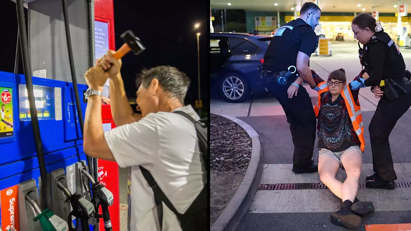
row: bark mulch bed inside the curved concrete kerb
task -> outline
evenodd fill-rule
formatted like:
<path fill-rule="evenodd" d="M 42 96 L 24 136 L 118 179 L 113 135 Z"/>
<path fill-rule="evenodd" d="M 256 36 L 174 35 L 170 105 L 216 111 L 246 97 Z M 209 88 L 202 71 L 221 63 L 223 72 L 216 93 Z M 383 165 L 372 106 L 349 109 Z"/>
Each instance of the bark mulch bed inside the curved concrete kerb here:
<path fill-rule="evenodd" d="M 247 132 L 235 122 L 210 114 L 210 225 L 241 184 L 251 157 Z"/>

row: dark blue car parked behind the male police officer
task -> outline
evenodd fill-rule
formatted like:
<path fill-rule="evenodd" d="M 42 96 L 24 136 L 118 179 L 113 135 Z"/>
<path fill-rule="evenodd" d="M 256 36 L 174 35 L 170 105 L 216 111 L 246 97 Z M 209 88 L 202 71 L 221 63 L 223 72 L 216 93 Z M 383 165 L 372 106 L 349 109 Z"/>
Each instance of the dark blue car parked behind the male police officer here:
<path fill-rule="evenodd" d="M 258 67 L 270 41 L 267 35 L 210 33 L 211 84 L 227 102 L 243 102 L 252 93 L 265 92 Z"/>

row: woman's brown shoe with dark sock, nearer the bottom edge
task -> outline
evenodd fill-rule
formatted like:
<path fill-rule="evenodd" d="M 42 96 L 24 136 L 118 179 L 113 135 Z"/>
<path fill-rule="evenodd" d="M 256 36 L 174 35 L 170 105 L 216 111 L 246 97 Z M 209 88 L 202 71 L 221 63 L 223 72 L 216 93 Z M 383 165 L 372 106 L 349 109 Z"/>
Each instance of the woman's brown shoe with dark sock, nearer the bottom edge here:
<path fill-rule="evenodd" d="M 360 216 L 354 214 L 353 211 L 351 211 L 352 205 L 353 203 L 351 201 L 344 201 L 339 211 L 331 213 L 331 223 L 344 226 L 348 229 L 353 229 L 359 226 L 362 219 Z"/>

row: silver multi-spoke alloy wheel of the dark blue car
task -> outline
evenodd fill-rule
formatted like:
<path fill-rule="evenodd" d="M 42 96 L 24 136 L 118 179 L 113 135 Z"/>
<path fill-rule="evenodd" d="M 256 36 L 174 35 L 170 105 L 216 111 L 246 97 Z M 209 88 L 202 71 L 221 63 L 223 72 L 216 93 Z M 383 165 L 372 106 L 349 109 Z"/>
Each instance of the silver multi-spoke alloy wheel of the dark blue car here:
<path fill-rule="evenodd" d="M 219 91 L 230 103 L 244 102 L 251 95 L 247 81 L 237 73 L 226 74 L 219 82 Z"/>

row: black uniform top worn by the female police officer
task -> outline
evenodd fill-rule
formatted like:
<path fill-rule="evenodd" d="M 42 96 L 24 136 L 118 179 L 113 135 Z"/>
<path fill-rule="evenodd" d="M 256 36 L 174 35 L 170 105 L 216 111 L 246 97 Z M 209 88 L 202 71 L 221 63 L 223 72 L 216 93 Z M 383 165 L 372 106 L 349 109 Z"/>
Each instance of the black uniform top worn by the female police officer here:
<path fill-rule="evenodd" d="M 374 41 L 368 45 L 369 63 L 366 71 L 369 78 L 364 84 L 369 86 L 380 85 L 382 79 L 401 79 L 405 77 L 405 63 L 396 44 L 390 47 L 382 41 Z"/>

